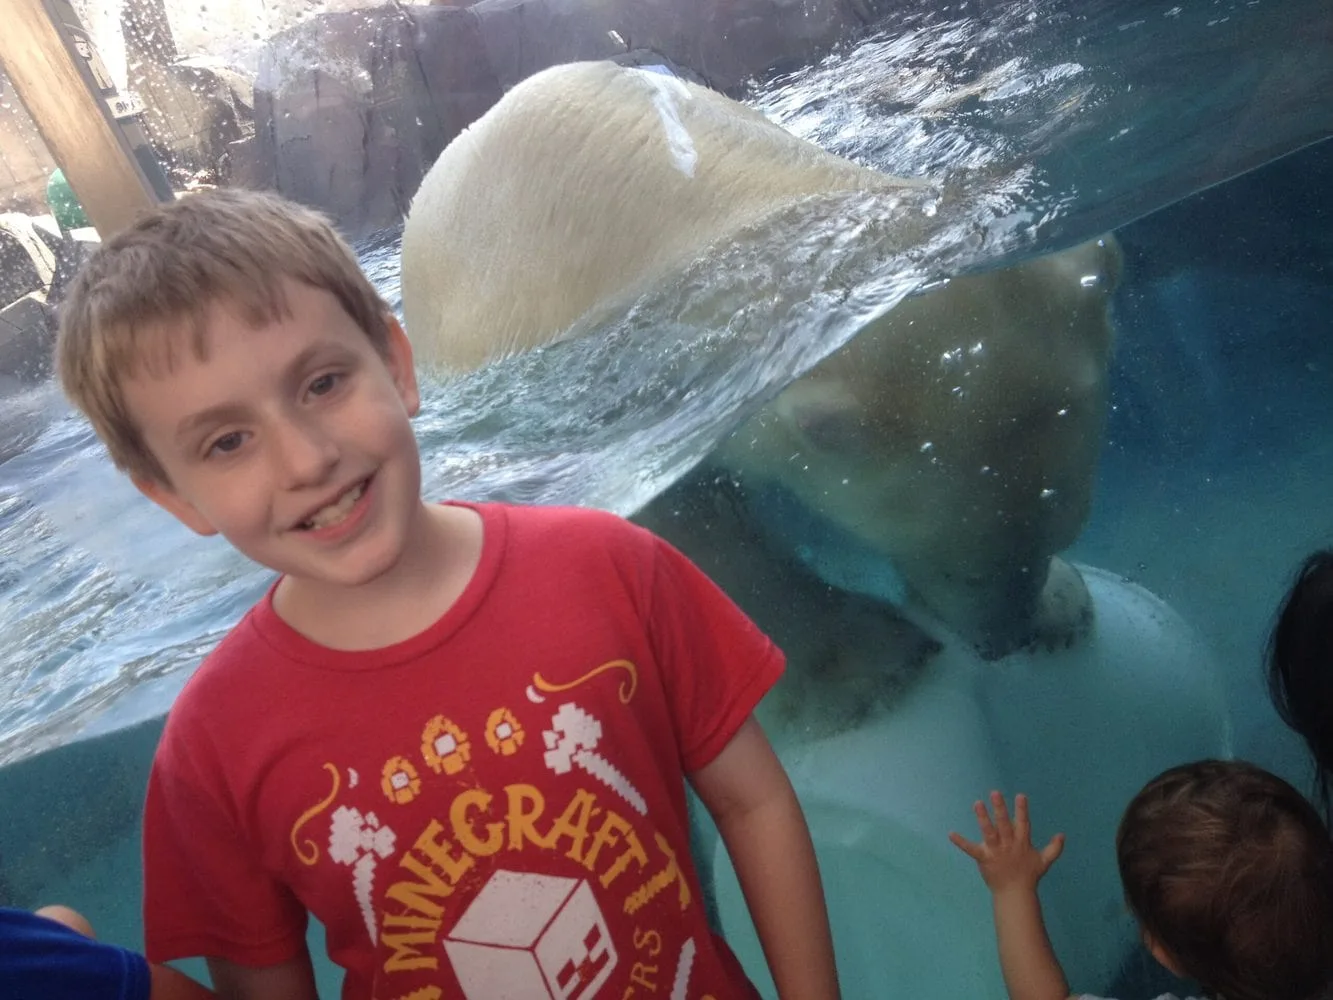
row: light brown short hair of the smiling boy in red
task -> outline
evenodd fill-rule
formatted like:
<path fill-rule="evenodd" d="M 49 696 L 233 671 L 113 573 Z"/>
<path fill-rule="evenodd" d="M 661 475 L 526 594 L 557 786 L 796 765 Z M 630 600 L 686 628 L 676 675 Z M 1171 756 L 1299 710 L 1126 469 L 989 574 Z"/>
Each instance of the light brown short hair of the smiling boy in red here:
<path fill-rule="evenodd" d="M 189 195 L 97 248 L 60 305 L 56 371 L 119 468 L 167 483 L 125 407 L 124 381 L 171 371 L 183 343 L 207 359 L 207 319 L 219 305 L 255 327 L 289 316 L 284 280 L 333 295 L 376 351 L 388 351 L 389 308 L 356 255 L 328 219 L 276 195 Z"/>

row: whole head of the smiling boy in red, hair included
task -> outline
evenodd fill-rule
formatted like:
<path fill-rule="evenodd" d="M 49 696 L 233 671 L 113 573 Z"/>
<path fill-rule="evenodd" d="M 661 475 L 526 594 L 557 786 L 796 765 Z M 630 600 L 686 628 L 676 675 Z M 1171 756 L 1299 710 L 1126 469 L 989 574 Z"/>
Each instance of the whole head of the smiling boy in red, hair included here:
<path fill-rule="evenodd" d="M 191 529 L 337 587 L 415 551 L 412 348 L 313 212 L 244 192 L 153 212 L 80 273 L 57 363 L 116 464 Z"/>

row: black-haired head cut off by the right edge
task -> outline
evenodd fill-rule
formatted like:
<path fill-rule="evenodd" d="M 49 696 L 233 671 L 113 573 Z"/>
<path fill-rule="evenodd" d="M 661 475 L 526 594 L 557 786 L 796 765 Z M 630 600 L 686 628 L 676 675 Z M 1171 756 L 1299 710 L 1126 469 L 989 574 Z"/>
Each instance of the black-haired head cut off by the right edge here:
<path fill-rule="evenodd" d="M 1316 788 L 1333 817 L 1333 551 L 1305 559 L 1268 644 L 1268 688 L 1314 757 Z"/>

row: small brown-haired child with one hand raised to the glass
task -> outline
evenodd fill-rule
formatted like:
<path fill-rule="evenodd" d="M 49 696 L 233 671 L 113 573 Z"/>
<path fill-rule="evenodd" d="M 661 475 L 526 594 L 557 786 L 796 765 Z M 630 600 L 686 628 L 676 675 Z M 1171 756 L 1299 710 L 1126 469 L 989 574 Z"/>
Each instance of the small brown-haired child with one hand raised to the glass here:
<path fill-rule="evenodd" d="M 1022 795 L 1013 817 L 1000 792 L 973 808 L 981 841 L 949 839 L 990 889 L 1009 996 L 1066 1000 L 1037 899 L 1064 836 L 1033 847 Z M 1333 840 L 1286 781 L 1244 761 L 1170 768 L 1130 801 L 1116 855 L 1144 944 L 1169 972 L 1225 1000 L 1328 1000 Z"/>

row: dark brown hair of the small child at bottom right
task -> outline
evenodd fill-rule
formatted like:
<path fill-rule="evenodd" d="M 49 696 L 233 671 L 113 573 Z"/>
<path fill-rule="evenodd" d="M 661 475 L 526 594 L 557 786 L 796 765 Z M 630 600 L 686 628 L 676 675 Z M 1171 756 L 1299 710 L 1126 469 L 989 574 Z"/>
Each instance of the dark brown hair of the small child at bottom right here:
<path fill-rule="evenodd" d="M 1238 760 L 1172 768 L 1129 804 L 1116 852 L 1134 916 L 1210 993 L 1333 987 L 1333 840 L 1282 779 Z"/>

